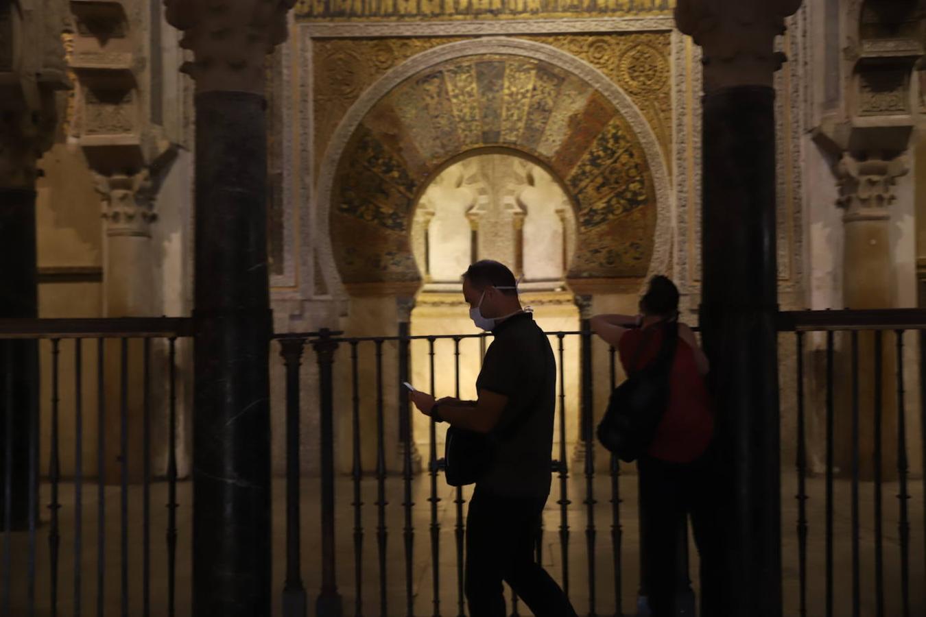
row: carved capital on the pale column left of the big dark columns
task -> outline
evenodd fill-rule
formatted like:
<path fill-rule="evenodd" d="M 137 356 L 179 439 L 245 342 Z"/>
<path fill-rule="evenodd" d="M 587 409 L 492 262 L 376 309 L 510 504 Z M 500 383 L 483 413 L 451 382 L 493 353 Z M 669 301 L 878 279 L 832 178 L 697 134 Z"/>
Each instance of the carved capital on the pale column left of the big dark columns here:
<path fill-rule="evenodd" d="M 96 191 L 103 195 L 103 218 L 108 236 L 151 237 L 155 212 L 155 183 L 147 169 L 133 175 L 94 174 Z"/>

